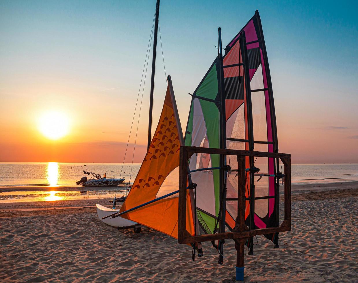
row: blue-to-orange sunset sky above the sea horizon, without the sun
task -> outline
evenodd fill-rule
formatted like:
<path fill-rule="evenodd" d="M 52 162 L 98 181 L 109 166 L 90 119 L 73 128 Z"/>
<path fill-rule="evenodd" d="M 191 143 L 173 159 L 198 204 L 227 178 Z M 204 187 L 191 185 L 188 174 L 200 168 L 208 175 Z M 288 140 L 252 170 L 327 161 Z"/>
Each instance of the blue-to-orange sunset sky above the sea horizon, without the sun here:
<path fill-rule="evenodd" d="M 357 8 L 355 1 L 162 0 L 153 131 L 165 74 L 185 128 L 188 93 L 216 58 L 218 27 L 225 46 L 257 9 L 279 151 L 292 163 L 358 163 Z M 1 1 L 0 161 L 123 162 L 154 11 L 155 0 Z M 146 152 L 150 72 L 151 57 L 125 162 Z M 44 136 L 45 112 L 65 115 L 68 134 Z"/>

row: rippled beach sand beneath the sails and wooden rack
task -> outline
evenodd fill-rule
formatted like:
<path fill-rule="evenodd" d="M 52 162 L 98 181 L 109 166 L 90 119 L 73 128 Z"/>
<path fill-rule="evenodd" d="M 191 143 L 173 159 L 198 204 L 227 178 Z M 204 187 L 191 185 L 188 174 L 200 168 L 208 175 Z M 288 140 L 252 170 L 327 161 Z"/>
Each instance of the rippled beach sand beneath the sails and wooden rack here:
<path fill-rule="evenodd" d="M 257 236 L 245 282 L 358 282 L 357 196 L 357 187 L 293 194 L 292 230 L 280 234 L 279 249 Z M 223 265 L 207 242 L 193 262 L 188 245 L 153 229 L 104 224 L 96 202 L 1 204 L 0 281 L 234 282 L 232 240 Z"/>

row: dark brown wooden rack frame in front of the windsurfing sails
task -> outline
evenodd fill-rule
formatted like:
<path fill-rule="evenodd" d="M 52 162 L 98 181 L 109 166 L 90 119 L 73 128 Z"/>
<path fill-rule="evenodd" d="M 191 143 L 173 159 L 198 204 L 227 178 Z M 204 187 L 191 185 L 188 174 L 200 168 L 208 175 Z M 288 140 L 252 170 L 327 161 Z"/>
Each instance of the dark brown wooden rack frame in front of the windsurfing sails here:
<path fill-rule="evenodd" d="M 209 153 L 219 155 L 236 155 L 238 161 L 238 201 L 237 218 L 232 232 L 206 234 L 191 236 L 186 231 L 187 211 L 187 180 L 188 180 L 188 160 L 193 153 Z M 280 158 L 285 166 L 285 216 L 280 226 L 249 230 L 245 225 L 245 156 Z M 179 163 L 179 215 L 178 215 L 178 242 L 180 244 L 198 243 L 202 241 L 213 241 L 222 239 L 233 239 L 237 245 L 238 258 L 243 261 L 243 241 L 249 237 L 276 232 L 291 230 L 291 155 L 287 153 L 273 153 L 261 151 L 230 150 L 205 147 L 180 147 Z M 240 252 L 239 252 L 240 250 Z M 240 253 L 240 255 L 239 255 Z"/>

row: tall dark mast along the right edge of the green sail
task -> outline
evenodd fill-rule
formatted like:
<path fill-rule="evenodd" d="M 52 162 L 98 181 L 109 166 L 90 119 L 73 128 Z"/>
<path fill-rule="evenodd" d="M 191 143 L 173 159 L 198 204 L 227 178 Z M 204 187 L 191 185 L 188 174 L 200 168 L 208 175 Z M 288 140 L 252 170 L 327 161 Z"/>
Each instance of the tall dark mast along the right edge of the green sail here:
<path fill-rule="evenodd" d="M 222 53 L 222 43 L 221 43 L 221 28 L 218 28 L 219 34 L 219 96 L 220 96 L 220 111 L 219 111 L 219 139 L 220 139 L 220 148 L 226 148 L 226 109 L 225 109 L 225 86 L 224 86 L 224 67 L 223 67 L 223 53 Z M 226 215 L 226 171 L 224 166 L 226 166 L 226 157 L 220 155 L 219 159 L 220 166 L 220 204 L 221 211 L 220 213 L 220 232 L 225 232 L 225 215 Z M 224 249 L 224 240 L 219 240 L 218 251 L 219 251 L 219 260 L 218 263 L 222 264 L 224 260 L 223 256 Z"/>

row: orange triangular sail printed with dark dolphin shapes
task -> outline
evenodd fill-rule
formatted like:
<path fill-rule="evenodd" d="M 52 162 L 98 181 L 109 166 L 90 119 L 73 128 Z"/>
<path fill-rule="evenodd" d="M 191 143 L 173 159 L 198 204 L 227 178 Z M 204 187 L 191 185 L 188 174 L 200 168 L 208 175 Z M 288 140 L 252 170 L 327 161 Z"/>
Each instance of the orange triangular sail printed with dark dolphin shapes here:
<path fill-rule="evenodd" d="M 163 110 L 153 140 L 120 212 L 179 189 L 181 145 L 184 145 L 184 138 L 169 76 Z M 178 194 L 125 213 L 121 217 L 178 238 Z M 194 235 L 191 190 L 187 190 L 187 231 Z"/>

